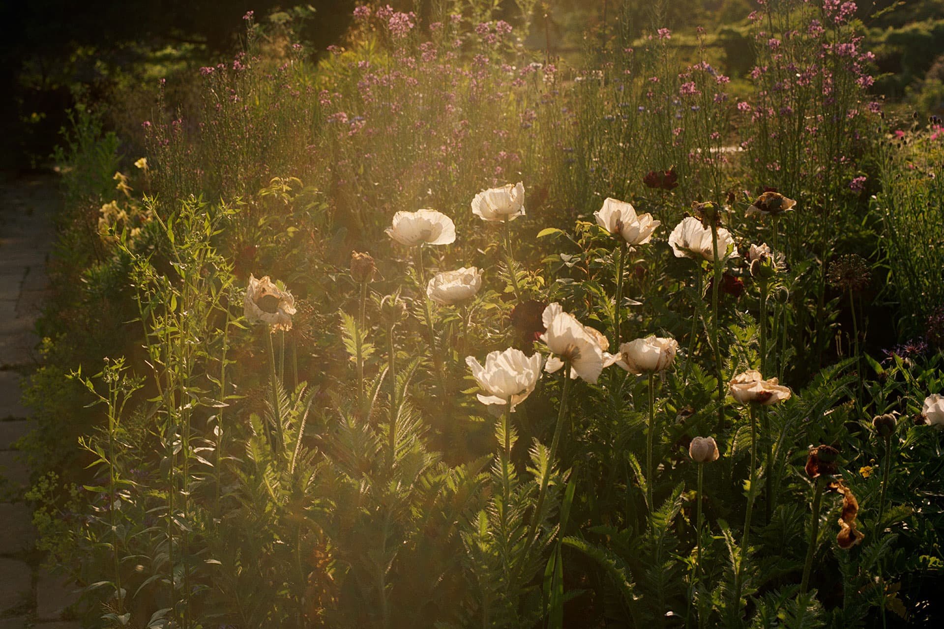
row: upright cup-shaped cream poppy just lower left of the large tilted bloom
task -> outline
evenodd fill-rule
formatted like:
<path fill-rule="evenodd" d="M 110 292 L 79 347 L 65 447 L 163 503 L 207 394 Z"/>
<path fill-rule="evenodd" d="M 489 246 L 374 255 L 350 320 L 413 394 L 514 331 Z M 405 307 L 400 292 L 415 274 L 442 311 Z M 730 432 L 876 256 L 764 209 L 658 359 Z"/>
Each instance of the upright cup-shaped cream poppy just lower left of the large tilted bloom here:
<path fill-rule="evenodd" d="M 479 386 L 486 394 L 478 394 L 484 405 L 505 406 L 509 401 L 514 407 L 531 395 L 538 378 L 544 357 L 534 353 L 530 358 L 521 350 L 509 347 L 504 352 L 490 352 L 482 367 L 475 356 L 466 356 L 465 364 L 472 370 Z"/>

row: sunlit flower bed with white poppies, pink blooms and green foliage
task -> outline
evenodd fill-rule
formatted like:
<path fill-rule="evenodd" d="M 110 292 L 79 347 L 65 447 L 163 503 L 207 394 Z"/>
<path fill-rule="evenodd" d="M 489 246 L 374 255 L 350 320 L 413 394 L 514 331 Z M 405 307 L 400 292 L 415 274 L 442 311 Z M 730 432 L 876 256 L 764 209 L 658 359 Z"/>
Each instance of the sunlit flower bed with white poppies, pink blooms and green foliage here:
<path fill-rule="evenodd" d="M 249 12 L 137 153 L 72 113 L 25 446 L 91 626 L 942 617 L 940 120 L 852 2 L 736 75 L 536 5 Z"/>

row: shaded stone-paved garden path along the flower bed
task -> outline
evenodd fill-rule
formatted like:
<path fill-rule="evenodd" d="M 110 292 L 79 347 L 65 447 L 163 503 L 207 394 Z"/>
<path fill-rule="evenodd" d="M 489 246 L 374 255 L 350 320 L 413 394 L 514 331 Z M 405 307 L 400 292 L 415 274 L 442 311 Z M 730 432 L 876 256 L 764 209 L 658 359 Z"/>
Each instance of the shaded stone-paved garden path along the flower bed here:
<path fill-rule="evenodd" d="M 79 627 L 66 620 L 74 588 L 40 567 L 23 502 L 29 470 L 15 449 L 32 425 L 20 387 L 39 359 L 34 325 L 48 293 L 59 206 L 55 177 L 0 174 L 0 629 Z"/>

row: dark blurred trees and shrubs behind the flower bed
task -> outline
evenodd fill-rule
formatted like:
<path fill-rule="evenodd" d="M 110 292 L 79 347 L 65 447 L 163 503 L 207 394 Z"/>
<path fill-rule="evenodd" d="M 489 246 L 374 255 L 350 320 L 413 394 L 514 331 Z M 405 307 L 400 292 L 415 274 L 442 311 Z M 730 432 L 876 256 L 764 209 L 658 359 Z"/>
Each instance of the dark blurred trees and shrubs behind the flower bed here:
<path fill-rule="evenodd" d="M 395 8 L 429 13 L 434 0 L 389 0 Z M 355 0 L 313 0 L 286 5 L 274 0 L 31 0 L 0 4 L 0 168 L 23 169 L 47 161 L 76 102 L 107 99 L 117 85 L 140 84 L 145 64 L 174 67 L 210 63 L 239 49 L 243 16 L 257 20 L 284 10 L 309 17 L 295 24 L 312 51 L 343 40 Z M 386 3 L 384 3 L 386 4 Z M 505 0 L 509 15 L 514 1 Z M 877 55 L 875 91 L 891 102 L 923 112 L 944 109 L 944 0 L 860 1 L 858 17 L 868 28 L 865 45 Z M 621 11 L 633 16 L 615 24 Z M 685 0 L 666 15 L 650 14 L 643 0 L 549 0 L 539 2 L 528 45 L 565 52 L 603 29 L 640 32 L 653 19 L 684 33 L 701 25 L 728 59 L 728 74 L 750 71 L 747 15 L 751 0 Z M 604 8 L 608 12 L 604 13 Z M 545 18 L 547 15 L 547 18 Z M 605 22 L 604 22 L 605 18 Z M 548 39 L 545 40 L 547 33 Z M 681 41 L 680 41 L 681 43 Z"/>

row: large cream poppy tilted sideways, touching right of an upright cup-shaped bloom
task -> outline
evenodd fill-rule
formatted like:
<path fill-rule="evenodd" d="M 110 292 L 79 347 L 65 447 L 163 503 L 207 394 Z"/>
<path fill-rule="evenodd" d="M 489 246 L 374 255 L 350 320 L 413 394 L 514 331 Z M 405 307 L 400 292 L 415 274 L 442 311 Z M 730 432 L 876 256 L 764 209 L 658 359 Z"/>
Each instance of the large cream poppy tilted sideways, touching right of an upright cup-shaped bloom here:
<path fill-rule="evenodd" d="M 551 304 L 542 314 L 547 331 L 541 339 L 547 343 L 551 354 L 545 365 L 548 373 L 564 367 L 570 362 L 570 377 L 581 377 L 587 382 L 597 382 L 603 368 L 615 363 L 618 356 L 606 353 L 609 341 L 592 327 L 583 325 L 560 304 Z"/>

